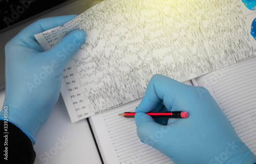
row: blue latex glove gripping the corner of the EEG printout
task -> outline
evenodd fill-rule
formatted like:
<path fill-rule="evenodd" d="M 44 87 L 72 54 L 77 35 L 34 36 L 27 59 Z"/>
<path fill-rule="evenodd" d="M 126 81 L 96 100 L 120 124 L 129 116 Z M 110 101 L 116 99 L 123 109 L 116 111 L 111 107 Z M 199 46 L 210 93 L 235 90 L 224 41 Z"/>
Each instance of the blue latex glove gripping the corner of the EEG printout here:
<path fill-rule="evenodd" d="M 86 39 L 86 33 L 75 30 L 54 48 L 44 51 L 34 34 L 55 28 L 76 16 L 40 19 L 6 44 L 6 95 L 0 119 L 5 119 L 4 106 L 8 106 L 8 122 L 19 127 L 33 143 L 59 98 L 63 70 Z"/>

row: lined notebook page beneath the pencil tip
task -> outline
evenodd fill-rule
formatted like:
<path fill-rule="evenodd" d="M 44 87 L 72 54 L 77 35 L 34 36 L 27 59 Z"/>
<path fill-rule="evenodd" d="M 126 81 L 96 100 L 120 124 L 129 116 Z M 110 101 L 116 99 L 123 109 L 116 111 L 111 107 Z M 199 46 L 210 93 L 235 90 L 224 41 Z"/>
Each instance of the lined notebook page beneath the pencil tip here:
<path fill-rule="evenodd" d="M 118 115 L 134 112 L 140 101 L 89 118 L 104 163 L 173 163 L 161 152 L 140 141 L 134 119 Z"/>

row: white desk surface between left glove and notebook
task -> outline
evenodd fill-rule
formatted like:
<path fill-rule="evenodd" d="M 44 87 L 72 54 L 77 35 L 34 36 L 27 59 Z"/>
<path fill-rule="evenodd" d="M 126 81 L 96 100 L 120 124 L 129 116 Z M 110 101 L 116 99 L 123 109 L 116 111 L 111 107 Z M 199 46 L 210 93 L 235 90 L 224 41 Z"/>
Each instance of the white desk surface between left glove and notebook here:
<path fill-rule="evenodd" d="M 4 100 L 5 89 L 2 89 L 0 90 L 1 109 Z M 61 96 L 35 140 L 36 164 L 101 163 L 87 120 L 71 123 Z M 66 143 L 61 144 L 59 140 L 65 140 Z M 45 152 L 49 152 L 49 157 Z"/>

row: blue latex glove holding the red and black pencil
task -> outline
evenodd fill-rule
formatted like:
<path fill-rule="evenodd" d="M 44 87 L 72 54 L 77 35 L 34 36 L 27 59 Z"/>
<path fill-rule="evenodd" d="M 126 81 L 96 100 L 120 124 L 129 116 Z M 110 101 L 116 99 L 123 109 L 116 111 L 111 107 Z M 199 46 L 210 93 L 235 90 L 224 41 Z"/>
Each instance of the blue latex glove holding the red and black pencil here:
<path fill-rule="evenodd" d="M 188 118 L 161 125 L 144 114 L 151 111 L 186 111 Z M 256 162 L 205 88 L 154 75 L 135 112 L 139 138 L 175 163 Z"/>

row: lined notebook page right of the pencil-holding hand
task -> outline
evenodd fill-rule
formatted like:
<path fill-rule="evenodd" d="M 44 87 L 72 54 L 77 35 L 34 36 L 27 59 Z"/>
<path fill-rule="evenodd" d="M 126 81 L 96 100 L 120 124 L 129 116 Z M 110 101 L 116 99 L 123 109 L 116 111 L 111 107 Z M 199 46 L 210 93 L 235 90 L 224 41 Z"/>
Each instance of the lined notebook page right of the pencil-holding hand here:
<path fill-rule="evenodd" d="M 193 80 L 220 105 L 240 139 L 256 155 L 256 58 Z"/>

